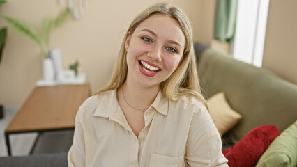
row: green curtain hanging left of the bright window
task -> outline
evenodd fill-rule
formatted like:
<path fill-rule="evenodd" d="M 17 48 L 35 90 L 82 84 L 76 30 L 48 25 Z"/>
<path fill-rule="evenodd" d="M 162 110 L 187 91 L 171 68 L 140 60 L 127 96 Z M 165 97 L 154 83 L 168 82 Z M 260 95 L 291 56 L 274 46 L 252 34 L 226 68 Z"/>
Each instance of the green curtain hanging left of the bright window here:
<path fill-rule="evenodd" d="M 215 39 L 229 42 L 234 39 L 237 0 L 218 0 L 215 17 Z"/>

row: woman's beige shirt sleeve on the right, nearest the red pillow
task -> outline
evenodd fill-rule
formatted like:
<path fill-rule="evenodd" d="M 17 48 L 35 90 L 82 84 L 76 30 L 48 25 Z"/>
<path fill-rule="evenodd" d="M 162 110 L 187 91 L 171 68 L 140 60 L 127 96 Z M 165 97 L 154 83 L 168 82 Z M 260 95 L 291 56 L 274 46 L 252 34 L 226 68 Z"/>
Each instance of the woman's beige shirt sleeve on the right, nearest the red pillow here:
<path fill-rule="evenodd" d="M 222 154 L 220 134 L 204 106 L 192 117 L 185 161 L 188 167 L 228 166 L 228 160 Z"/>

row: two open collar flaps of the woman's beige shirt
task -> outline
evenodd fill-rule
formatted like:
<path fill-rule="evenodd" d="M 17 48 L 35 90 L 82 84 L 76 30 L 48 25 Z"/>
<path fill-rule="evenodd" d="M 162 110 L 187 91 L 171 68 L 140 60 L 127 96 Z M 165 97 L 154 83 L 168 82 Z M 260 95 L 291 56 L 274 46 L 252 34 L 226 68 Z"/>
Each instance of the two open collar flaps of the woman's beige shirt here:
<path fill-rule="evenodd" d="M 100 93 L 99 95 L 100 102 L 96 107 L 96 111 L 94 112 L 93 116 L 100 116 L 103 118 L 110 118 L 119 107 L 119 102 L 116 99 L 116 89 L 115 90 L 108 90 L 104 93 Z M 169 99 L 163 95 L 162 91 L 158 92 L 157 97 L 153 101 L 153 108 L 156 111 L 161 113 L 162 115 L 167 116 L 168 109 L 169 109 Z"/>

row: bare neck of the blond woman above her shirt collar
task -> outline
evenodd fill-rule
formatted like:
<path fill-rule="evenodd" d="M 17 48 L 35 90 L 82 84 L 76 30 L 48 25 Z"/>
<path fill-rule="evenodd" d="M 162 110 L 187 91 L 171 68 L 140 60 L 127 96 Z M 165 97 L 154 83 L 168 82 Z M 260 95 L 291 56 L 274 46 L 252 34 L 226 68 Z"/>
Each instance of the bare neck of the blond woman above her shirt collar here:
<path fill-rule="evenodd" d="M 128 104 L 137 109 L 147 109 L 155 100 L 155 97 L 160 90 L 160 86 L 154 86 L 152 88 L 140 88 L 139 86 L 135 86 L 135 84 L 132 84 L 132 82 L 127 80 L 121 86 L 121 89 Z"/>

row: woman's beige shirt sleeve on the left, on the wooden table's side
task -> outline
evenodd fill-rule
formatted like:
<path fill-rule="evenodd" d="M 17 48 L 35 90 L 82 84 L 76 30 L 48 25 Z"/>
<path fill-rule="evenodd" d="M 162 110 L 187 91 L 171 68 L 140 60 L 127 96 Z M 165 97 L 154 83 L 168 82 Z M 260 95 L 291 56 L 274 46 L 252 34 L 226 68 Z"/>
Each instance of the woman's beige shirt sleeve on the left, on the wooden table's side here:
<path fill-rule="evenodd" d="M 68 152 L 68 167 L 85 166 L 85 145 L 84 129 L 81 122 L 82 111 L 77 112 L 75 117 L 75 133 L 73 136 L 73 145 Z"/>

